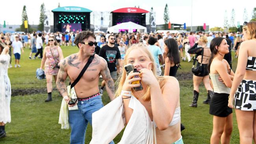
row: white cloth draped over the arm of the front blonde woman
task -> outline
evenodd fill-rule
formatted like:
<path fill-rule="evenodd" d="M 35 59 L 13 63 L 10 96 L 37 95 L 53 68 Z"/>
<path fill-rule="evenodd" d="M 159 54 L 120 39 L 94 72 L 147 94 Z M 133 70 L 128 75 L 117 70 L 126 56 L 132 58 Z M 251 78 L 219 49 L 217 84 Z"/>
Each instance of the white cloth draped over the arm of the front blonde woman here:
<path fill-rule="evenodd" d="M 145 107 L 134 96 L 129 107 L 132 116 L 119 144 L 153 144 L 153 126 Z M 122 96 L 93 113 L 93 135 L 90 144 L 108 144 L 125 126 Z"/>

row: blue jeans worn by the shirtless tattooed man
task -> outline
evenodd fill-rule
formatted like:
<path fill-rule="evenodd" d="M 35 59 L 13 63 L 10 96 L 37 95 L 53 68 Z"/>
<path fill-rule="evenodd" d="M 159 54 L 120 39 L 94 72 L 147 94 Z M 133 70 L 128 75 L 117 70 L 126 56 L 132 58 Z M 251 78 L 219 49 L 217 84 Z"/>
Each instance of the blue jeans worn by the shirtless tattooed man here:
<path fill-rule="evenodd" d="M 89 100 L 78 101 L 78 110 L 69 111 L 69 124 L 71 127 L 70 144 L 84 144 L 85 131 L 88 122 L 92 124 L 92 114 L 104 105 L 101 96 Z M 113 140 L 109 144 L 114 144 Z"/>

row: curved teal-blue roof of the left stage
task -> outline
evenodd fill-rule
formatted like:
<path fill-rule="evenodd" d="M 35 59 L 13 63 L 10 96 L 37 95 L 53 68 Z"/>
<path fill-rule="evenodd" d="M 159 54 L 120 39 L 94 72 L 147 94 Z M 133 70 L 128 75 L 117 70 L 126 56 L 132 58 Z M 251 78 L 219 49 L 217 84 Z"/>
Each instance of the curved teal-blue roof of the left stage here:
<path fill-rule="evenodd" d="M 76 7 L 76 6 L 67 6 L 67 7 L 58 7 L 53 9 L 52 12 L 79 12 L 79 13 L 91 13 L 90 9 L 84 7 Z"/>

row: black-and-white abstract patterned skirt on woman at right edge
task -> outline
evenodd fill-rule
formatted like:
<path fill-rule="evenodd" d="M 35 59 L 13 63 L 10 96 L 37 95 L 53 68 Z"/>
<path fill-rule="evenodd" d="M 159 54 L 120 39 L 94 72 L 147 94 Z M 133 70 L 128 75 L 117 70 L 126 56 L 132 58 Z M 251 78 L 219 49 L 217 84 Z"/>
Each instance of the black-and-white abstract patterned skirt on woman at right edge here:
<path fill-rule="evenodd" d="M 256 111 L 256 81 L 242 80 L 236 90 L 235 107 L 242 111 Z"/>

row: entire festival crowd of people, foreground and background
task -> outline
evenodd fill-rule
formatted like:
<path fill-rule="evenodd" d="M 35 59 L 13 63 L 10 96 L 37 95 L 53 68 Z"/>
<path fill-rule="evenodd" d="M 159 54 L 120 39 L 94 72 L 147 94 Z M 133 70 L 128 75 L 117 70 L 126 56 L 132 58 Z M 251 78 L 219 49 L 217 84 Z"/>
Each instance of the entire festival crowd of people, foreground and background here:
<path fill-rule="evenodd" d="M 69 107 L 65 108 L 69 109 L 68 116 L 60 114 L 59 123 L 71 127 L 72 144 L 85 142 L 88 122 L 93 126 L 92 144 L 113 144 L 124 126 L 122 143 L 183 144 L 180 88 L 175 78 L 180 61 L 193 65 L 193 101 L 189 107 L 198 105 L 201 82 L 208 92 L 203 103 L 210 104 L 213 115 L 211 144 L 230 143 L 232 108 L 236 109 L 240 143 L 256 142 L 256 22 L 245 22 L 243 33 L 76 31 L 0 36 L 0 82 L 6 85 L 0 93 L 0 108 L 4 109 L 0 111 L 0 137 L 10 122 L 10 56 L 14 54 L 15 67 L 20 67 L 23 48 L 30 48 L 30 59 L 39 54 L 42 59 L 40 69 L 45 70 L 48 92 L 45 102 L 52 100 L 54 77 Z M 79 50 L 64 58 L 62 46 L 77 46 Z M 232 71 L 231 51 L 238 58 L 236 73 Z M 67 77 L 69 88 L 65 85 Z M 106 106 L 101 100 L 105 86 L 111 100 Z"/>

